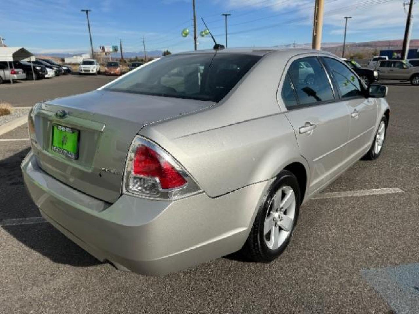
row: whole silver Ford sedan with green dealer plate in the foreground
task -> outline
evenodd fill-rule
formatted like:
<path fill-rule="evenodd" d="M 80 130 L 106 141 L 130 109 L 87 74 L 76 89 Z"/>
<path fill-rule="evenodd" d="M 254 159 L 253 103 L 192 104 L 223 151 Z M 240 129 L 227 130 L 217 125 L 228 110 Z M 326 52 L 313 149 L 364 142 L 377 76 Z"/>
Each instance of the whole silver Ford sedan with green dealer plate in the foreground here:
<path fill-rule="evenodd" d="M 380 156 L 386 93 L 321 51 L 166 56 L 37 103 L 23 178 L 47 221 L 118 269 L 162 275 L 238 250 L 269 262 L 303 203 Z"/>

